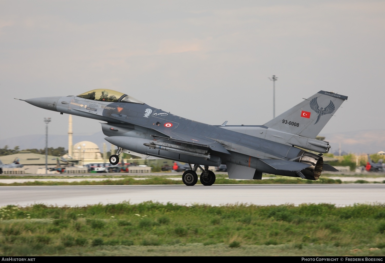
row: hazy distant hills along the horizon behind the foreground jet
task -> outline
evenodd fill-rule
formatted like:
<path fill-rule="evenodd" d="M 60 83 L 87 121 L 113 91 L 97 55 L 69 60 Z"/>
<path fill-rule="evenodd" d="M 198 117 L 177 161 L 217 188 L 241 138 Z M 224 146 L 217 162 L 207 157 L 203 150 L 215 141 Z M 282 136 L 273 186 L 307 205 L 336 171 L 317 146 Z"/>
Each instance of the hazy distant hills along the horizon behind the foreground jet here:
<path fill-rule="evenodd" d="M 377 153 L 385 151 L 385 130 L 363 130 L 355 132 L 326 133 L 320 134 L 325 136 L 325 141 L 329 141 L 331 145 L 330 152 L 338 151 L 338 143 L 341 143 L 341 150 L 350 153 Z M 105 135 L 102 131 L 93 135 L 74 135 L 73 142 L 92 141 L 103 151 L 103 143 L 107 144 L 107 150 L 110 150 L 110 143 L 104 140 Z M 9 139 L 0 140 L 0 148 L 8 145 L 9 148 L 19 146 L 20 149 L 43 149 L 45 147 L 45 135 L 24 135 Z M 68 148 L 67 135 L 48 135 L 48 147 L 64 147 Z"/>

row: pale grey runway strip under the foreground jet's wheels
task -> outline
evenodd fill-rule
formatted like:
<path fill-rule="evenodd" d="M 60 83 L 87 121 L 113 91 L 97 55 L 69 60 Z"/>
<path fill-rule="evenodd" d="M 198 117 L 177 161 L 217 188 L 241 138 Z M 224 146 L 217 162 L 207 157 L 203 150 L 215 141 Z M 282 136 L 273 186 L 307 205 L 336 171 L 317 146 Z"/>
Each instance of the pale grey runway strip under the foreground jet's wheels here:
<path fill-rule="evenodd" d="M 181 205 L 248 203 L 385 203 L 385 184 L 341 185 L 90 185 L 0 186 L 0 206 L 44 203 L 58 206 L 141 203 L 154 201 Z"/>

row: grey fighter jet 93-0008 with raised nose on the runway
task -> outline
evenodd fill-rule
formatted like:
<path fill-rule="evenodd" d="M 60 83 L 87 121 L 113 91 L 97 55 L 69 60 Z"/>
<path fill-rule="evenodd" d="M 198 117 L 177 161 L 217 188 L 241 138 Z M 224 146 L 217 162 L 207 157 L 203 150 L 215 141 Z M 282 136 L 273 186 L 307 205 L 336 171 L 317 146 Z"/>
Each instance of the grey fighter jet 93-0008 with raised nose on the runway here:
<path fill-rule="evenodd" d="M 315 137 L 347 98 L 320 91 L 264 125 L 209 125 L 106 89 L 25 101 L 60 114 L 103 121 L 105 140 L 118 147 L 109 158 L 112 165 L 119 162 L 122 152 L 188 163 L 190 169 L 182 180 L 192 186 L 198 181 L 198 168 L 201 183 L 212 185 L 215 174 L 208 168 L 221 164 L 234 179 L 261 180 L 262 173 L 269 173 L 318 180 L 328 166 L 323 164 L 322 153 L 330 145 Z"/>

